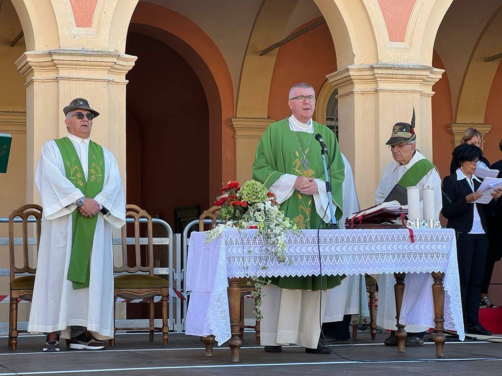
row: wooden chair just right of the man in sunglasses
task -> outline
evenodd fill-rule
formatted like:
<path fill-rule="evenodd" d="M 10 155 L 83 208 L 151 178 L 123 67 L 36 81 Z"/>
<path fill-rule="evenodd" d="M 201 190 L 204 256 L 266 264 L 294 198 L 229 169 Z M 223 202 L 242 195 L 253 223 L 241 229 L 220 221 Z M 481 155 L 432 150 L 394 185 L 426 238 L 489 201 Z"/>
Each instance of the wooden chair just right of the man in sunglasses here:
<path fill-rule="evenodd" d="M 126 205 L 126 218 L 134 218 L 134 240 L 135 240 L 135 265 L 129 266 L 127 252 L 127 227 L 128 224 L 122 227 L 122 265 L 114 266 L 115 273 L 127 272 L 130 274 L 119 275 L 114 278 L 113 286 L 113 318 L 115 318 L 115 304 L 117 297 L 123 299 L 150 299 L 150 325 L 143 328 L 114 328 L 117 330 L 149 330 L 150 342 L 154 340 L 154 332 L 162 331 L 162 341 L 166 345 L 169 339 L 169 327 L 167 324 L 168 315 L 168 296 L 169 282 L 161 277 L 154 275 L 154 251 L 152 240 L 152 217 L 143 209 L 136 205 Z M 147 265 L 141 263 L 141 247 L 140 247 L 140 218 L 147 219 Z M 148 274 L 140 274 L 138 272 L 147 272 Z M 154 297 L 162 296 L 162 328 L 155 327 L 154 323 Z M 115 322 L 115 320 L 113 320 Z M 115 338 L 110 339 L 110 346 L 115 344 Z"/>

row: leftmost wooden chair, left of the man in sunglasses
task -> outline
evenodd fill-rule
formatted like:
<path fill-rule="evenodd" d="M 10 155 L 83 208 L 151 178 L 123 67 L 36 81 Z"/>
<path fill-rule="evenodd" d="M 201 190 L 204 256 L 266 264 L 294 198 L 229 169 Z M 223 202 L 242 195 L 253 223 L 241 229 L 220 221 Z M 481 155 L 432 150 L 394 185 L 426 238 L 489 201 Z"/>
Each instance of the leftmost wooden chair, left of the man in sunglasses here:
<path fill-rule="evenodd" d="M 9 216 L 9 254 L 10 254 L 10 297 L 11 304 L 9 309 L 9 346 L 15 350 L 18 346 L 18 333 L 26 333 L 26 330 L 18 330 L 18 299 L 31 301 L 33 298 L 33 287 L 35 285 L 36 268 L 29 266 L 28 255 L 28 217 L 33 216 L 37 220 L 37 253 L 40 244 L 40 231 L 42 220 L 42 207 L 36 204 L 23 205 L 21 208 L 12 212 Z M 15 247 L 14 247 L 14 219 L 22 219 L 23 231 L 23 266 L 16 267 Z M 16 277 L 17 273 L 29 273 L 30 275 Z"/>

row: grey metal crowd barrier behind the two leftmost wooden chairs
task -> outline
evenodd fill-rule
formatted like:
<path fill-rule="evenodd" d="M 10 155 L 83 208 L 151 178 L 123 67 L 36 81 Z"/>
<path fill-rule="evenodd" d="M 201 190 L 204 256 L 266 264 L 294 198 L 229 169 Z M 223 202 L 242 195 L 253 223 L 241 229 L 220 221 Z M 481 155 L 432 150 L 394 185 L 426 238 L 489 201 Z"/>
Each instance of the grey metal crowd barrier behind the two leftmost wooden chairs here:
<path fill-rule="evenodd" d="M 21 218 L 15 218 L 14 219 L 15 223 L 21 223 L 22 220 Z M 29 223 L 35 223 L 36 220 L 33 217 L 28 218 Z M 134 218 L 127 218 L 126 219 L 127 223 L 134 223 Z M 140 223 L 146 223 L 147 219 L 146 218 L 141 218 Z M 198 223 L 198 221 L 194 221 Z M 9 218 L 0 218 L 0 223 L 9 223 Z M 167 267 L 164 268 L 154 268 L 154 274 L 156 275 L 167 275 L 168 276 L 168 281 L 169 281 L 169 287 L 173 287 L 173 283 L 176 280 L 176 289 L 178 291 L 181 290 L 181 283 L 183 278 L 183 271 L 181 271 L 181 234 L 174 234 L 173 235 L 173 230 L 171 229 L 171 226 L 169 224 L 161 219 L 158 218 L 152 218 L 152 223 L 157 223 L 162 225 L 168 234 L 167 238 L 153 238 L 153 245 L 167 245 L 168 246 L 168 257 L 166 260 L 166 265 Z M 192 222 L 191 222 L 192 223 Z M 176 236 L 176 242 L 174 242 L 174 236 Z M 134 238 L 127 238 L 127 244 L 135 244 L 135 239 Z M 176 269 L 173 268 L 173 262 L 174 262 L 174 257 L 173 257 L 173 243 L 176 244 Z M 14 244 L 15 245 L 22 245 L 23 244 L 23 238 L 15 238 L 14 239 Z M 113 238 L 113 245 L 121 245 L 122 244 L 122 239 L 121 238 Z M 140 238 L 140 244 L 148 244 L 148 238 Z M 0 238 L 0 246 L 8 246 L 9 245 L 9 238 Z M 36 238 L 28 238 L 28 245 L 37 245 L 37 239 Z M 186 258 L 185 258 L 186 260 Z M 184 267 L 186 267 L 186 261 L 184 264 Z M 178 273 L 176 271 L 179 271 Z M 0 269 L 0 276 L 10 276 L 10 269 Z M 173 299 L 176 299 L 176 320 L 174 319 L 174 310 L 173 310 Z M 184 302 L 186 305 L 186 301 Z M 184 324 L 182 325 L 182 317 L 181 317 L 181 299 L 178 297 L 173 297 L 172 295 L 169 297 L 169 303 L 168 303 L 168 308 L 169 308 L 169 328 L 171 331 L 176 331 L 176 332 L 181 332 L 184 329 Z M 184 310 L 186 312 L 186 309 Z M 125 325 L 130 325 L 130 321 L 132 323 L 133 320 L 123 320 L 122 323 Z M 136 320 L 134 320 L 136 321 Z M 0 322 L 0 325 L 2 324 L 8 324 L 8 323 L 2 323 Z M 133 325 L 132 325 L 133 326 Z M 140 326 L 140 325 L 134 325 L 134 326 Z"/>

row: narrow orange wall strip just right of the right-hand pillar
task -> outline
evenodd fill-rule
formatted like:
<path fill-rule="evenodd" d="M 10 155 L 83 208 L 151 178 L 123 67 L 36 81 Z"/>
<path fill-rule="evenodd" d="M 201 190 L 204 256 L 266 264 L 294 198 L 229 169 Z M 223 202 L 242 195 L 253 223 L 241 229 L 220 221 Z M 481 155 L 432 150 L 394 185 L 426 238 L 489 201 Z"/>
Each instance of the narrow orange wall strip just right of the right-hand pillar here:
<path fill-rule="evenodd" d="M 432 66 L 445 69 L 436 51 L 432 55 Z M 453 151 L 452 137 L 446 128 L 453 121 L 448 72 L 443 73 L 432 90 L 435 93 L 432 96 L 432 159 L 439 170 L 439 175 L 443 178 L 450 174 L 451 152 Z"/>

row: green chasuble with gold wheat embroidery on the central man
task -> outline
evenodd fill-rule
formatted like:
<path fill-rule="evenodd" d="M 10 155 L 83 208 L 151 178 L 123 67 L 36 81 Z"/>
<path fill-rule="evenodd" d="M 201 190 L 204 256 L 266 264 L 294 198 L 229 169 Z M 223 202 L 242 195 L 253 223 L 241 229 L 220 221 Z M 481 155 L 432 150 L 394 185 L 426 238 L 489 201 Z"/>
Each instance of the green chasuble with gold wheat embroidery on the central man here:
<path fill-rule="evenodd" d="M 336 204 L 335 217 L 339 220 L 342 215 L 342 182 L 345 177 L 343 159 L 338 149 L 338 141 L 331 129 L 315 121 L 313 121 L 313 126 L 314 133 L 306 151 L 310 133 L 293 132 L 289 127 L 288 119 L 271 124 L 258 143 L 253 163 L 253 178 L 264 183 L 267 188 L 270 188 L 285 173 L 320 178 L 326 181 L 321 146 L 314 138 L 315 134 L 320 133 L 328 150 L 331 151 L 327 163 L 330 165 L 332 195 Z M 303 155 L 300 149 L 306 151 L 307 169 L 302 164 Z M 324 213 L 319 215 L 316 212 L 313 196 L 302 195 L 295 190 L 293 195 L 281 204 L 281 210 L 301 229 L 326 228 L 326 223 L 320 217 Z M 274 285 L 280 288 L 294 290 L 320 290 L 322 288 L 324 290 L 338 286 L 342 278 L 338 275 L 323 276 L 322 287 L 319 276 L 274 277 L 271 280 Z"/>

